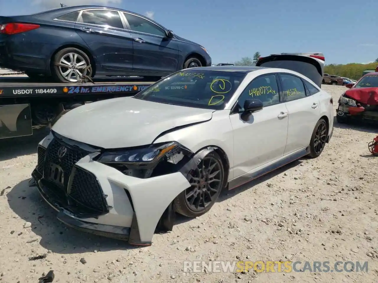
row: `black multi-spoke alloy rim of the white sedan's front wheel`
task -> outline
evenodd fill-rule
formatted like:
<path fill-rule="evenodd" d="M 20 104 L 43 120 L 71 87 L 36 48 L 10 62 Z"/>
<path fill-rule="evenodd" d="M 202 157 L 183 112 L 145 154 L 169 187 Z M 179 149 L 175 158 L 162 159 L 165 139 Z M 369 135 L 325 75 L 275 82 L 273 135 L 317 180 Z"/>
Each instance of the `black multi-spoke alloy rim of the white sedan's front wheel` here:
<path fill-rule="evenodd" d="M 222 189 L 222 165 L 216 158 L 208 156 L 189 175 L 191 187 L 185 190 L 186 204 L 192 211 L 203 211 L 216 200 Z"/>

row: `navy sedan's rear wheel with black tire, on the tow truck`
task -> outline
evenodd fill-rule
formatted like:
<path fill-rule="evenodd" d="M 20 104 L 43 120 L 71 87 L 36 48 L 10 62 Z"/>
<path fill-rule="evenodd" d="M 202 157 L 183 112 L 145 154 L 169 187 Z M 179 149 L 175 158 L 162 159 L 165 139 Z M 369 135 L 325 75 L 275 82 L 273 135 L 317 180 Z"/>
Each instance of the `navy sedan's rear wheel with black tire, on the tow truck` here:
<path fill-rule="evenodd" d="M 71 57 L 72 56 L 72 57 Z M 75 64 L 75 61 L 73 59 L 76 58 L 76 64 L 79 66 L 75 66 L 71 64 Z M 67 63 L 70 63 L 70 65 L 67 65 L 67 67 L 64 66 L 57 66 L 57 64 L 62 63 L 62 60 L 64 60 Z M 60 51 L 58 51 L 53 59 L 52 62 L 52 73 L 54 78 L 60 83 L 76 83 L 81 80 L 79 74 L 83 74 L 84 67 L 87 67 L 90 65 L 90 59 L 85 52 L 81 51 L 80 49 L 69 47 L 64 48 Z M 64 64 L 66 65 L 66 64 Z M 72 68 L 76 67 L 76 68 Z M 72 69 L 69 69 L 72 68 Z M 71 73 L 71 77 L 65 76 L 64 73 L 68 71 L 73 71 Z M 78 71 L 79 73 L 77 73 Z M 74 76 L 75 74 L 76 76 Z M 89 68 L 87 71 L 88 77 L 92 77 L 92 68 Z"/>

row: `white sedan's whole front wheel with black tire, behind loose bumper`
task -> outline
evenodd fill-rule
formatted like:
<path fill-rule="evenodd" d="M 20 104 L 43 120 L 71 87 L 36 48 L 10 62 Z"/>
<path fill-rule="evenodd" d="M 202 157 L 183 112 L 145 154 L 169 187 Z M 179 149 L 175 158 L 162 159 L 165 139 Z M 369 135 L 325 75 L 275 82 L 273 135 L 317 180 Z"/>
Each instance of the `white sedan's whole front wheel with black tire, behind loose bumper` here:
<path fill-rule="evenodd" d="M 206 169 L 209 169 L 209 167 L 211 168 L 211 166 L 213 165 L 214 167 L 207 173 L 208 176 L 205 175 L 204 178 L 201 179 L 200 174 L 202 174 L 203 172 L 203 166 Z M 219 181 L 212 181 L 211 183 L 207 183 L 206 180 L 208 179 L 206 179 L 206 177 L 210 177 L 211 175 L 214 175 L 212 180 Z M 175 211 L 177 211 L 181 215 L 191 218 L 201 216 L 208 212 L 214 205 L 214 203 L 217 201 L 218 196 L 222 191 L 224 177 L 225 169 L 223 167 L 222 159 L 219 157 L 219 155 L 214 151 L 206 155 L 203 158 L 203 160 L 198 164 L 197 168 L 189 172 L 188 181 L 189 183 L 191 183 L 192 186 L 186 189 L 185 191 L 181 192 L 175 198 Z M 195 180 L 195 178 L 198 178 L 200 180 Z M 210 200 L 209 195 L 206 194 L 206 192 L 211 194 Z M 201 198 L 204 199 L 203 203 L 200 203 Z M 193 205 L 191 205 L 192 200 Z M 197 208 L 195 207 L 195 204 L 198 204 Z"/>

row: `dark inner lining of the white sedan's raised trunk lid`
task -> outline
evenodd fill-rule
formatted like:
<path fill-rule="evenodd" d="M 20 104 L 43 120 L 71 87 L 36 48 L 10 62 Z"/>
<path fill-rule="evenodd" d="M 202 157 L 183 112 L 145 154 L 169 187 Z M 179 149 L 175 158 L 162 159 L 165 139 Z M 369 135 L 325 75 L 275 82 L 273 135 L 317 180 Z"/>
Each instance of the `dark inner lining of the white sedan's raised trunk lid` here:
<path fill-rule="evenodd" d="M 290 57 L 293 58 L 292 56 Z M 305 62 L 297 61 L 297 60 L 282 60 L 282 59 L 280 59 L 279 57 L 274 57 L 273 59 L 269 59 L 269 57 L 266 57 L 266 60 L 268 61 L 264 62 L 265 58 L 263 58 L 261 63 L 258 64 L 258 66 L 270 67 L 270 68 L 282 68 L 282 69 L 288 69 L 291 71 L 298 72 L 299 74 L 302 74 L 308 77 L 310 80 L 316 83 L 316 85 L 318 85 L 319 88 L 321 88 L 323 74 L 322 74 L 322 69 L 318 69 L 320 67 L 319 67 L 319 63 L 316 60 L 312 58 L 306 58 L 306 57 L 301 58 L 301 60 L 304 60 Z"/>

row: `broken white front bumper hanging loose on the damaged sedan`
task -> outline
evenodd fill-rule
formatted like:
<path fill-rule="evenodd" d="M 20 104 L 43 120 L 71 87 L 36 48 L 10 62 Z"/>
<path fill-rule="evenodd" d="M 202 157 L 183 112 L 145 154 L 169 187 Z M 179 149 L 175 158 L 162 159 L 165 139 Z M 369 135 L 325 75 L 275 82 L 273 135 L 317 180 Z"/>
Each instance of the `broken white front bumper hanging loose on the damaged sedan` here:
<path fill-rule="evenodd" d="M 58 211 L 57 218 L 73 228 L 127 240 L 131 245 L 149 246 L 161 216 L 169 210 L 174 198 L 190 187 L 180 172 L 147 179 L 124 175 L 117 169 L 93 161 L 93 155 L 98 154 L 95 152 L 74 163 L 68 185 L 59 189 L 48 180 L 46 173 L 41 172 L 46 172 L 57 142 L 70 146 L 66 143 L 68 140 L 59 140 L 52 134 L 40 142 L 38 165 L 30 185 L 35 185 L 45 201 Z M 77 186 L 77 172 L 86 172 L 94 180 L 88 177 Z M 101 194 L 97 189 L 90 191 L 96 183 Z M 98 201 L 99 197 L 102 197 L 104 206 Z"/>

